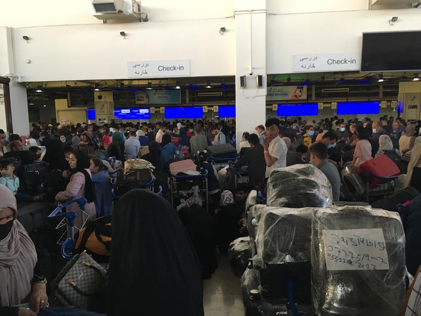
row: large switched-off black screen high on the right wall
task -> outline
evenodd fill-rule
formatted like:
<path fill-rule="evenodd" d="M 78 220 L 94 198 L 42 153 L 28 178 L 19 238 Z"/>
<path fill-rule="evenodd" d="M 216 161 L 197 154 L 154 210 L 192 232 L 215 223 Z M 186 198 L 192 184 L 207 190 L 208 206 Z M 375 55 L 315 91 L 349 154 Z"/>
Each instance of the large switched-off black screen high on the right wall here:
<path fill-rule="evenodd" d="M 362 34 L 361 71 L 421 69 L 421 31 Z"/>

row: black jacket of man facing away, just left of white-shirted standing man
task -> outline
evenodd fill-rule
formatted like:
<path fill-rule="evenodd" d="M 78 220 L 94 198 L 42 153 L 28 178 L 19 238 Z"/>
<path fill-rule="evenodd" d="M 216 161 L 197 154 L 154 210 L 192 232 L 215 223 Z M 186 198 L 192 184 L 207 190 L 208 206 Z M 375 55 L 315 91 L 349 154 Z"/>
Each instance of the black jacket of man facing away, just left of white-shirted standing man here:
<path fill-rule="evenodd" d="M 261 144 L 255 145 L 246 151 L 244 156 L 235 163 L 235 167 L 240 168 L 249 165 L 250 186 L 258 186 L 265 178 L 266 162 L 264 148 Z"/>

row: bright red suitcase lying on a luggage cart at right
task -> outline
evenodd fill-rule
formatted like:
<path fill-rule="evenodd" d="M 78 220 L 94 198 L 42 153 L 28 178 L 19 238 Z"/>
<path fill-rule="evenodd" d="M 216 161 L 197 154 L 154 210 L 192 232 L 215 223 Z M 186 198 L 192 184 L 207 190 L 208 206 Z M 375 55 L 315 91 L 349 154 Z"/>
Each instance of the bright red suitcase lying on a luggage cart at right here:
<path fill-rule="evenodd" d="M 396 166 L 393 160 L 386 155 L 368 160 L 361 164 L 359 168 L 363 173 L 371 173 L 379 177 L 394 177 L 400 175 L 398 166 Z M 384 180 L 375 177 L 372 178 L 372 181 L 376 185 L 380 185 L 385 182 Z"/>

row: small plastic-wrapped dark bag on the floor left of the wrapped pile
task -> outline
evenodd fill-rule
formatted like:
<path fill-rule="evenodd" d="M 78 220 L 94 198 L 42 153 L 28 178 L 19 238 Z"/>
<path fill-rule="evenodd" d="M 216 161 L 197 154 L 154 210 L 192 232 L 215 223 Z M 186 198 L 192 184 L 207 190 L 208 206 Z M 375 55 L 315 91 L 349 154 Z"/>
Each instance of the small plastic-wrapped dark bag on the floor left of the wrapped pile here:
<path fill-rule="evenodd" d="M 228 260 L 235 276 L 241 277 L 243 275 L 251 257 L 252 251 L 250 250 L 249 236 L 237 238 L 230 244 L 228 248 Z"/>

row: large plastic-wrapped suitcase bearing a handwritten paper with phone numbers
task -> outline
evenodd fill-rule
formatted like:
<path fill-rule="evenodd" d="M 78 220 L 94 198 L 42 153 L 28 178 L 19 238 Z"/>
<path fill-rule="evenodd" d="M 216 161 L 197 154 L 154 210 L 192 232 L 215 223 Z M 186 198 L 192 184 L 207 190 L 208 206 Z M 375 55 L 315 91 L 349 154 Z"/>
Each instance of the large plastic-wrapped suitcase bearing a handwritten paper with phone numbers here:
<path fill-rule="evenodd" d="M 405 300 L 405 235 L 395 212 L 315 211 L 312 293 L 316 315 L 398 315 Z"/>

